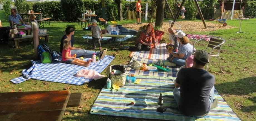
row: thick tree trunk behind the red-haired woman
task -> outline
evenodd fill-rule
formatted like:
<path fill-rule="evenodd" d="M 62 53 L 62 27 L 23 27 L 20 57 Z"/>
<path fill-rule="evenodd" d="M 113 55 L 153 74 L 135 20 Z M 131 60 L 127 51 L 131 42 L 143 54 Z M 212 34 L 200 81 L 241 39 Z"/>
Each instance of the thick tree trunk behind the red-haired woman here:
<path fill-rule="evenodd" d="M 162 27 L 163 26 L 163 20 L 164 20 L 164 0 L 158 0 L 156 2 L 156 23 L 155 27 Z"/>

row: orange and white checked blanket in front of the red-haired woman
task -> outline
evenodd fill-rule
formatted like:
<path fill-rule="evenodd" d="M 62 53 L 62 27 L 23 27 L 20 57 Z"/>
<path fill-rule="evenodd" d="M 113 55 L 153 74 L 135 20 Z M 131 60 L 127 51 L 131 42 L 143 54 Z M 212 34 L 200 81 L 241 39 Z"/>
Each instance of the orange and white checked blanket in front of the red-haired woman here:
<path fill-rule="evenodd" d="M 150 51 L 132 51 L 129 56 L 132 57 L 134 55 L 148 59 L 166 59 L 169 57 L 169 52 L 166 49 L 166 43 L 161 43 L 157 45 L 156 48 L 153 48 L 152 45 Z"/>

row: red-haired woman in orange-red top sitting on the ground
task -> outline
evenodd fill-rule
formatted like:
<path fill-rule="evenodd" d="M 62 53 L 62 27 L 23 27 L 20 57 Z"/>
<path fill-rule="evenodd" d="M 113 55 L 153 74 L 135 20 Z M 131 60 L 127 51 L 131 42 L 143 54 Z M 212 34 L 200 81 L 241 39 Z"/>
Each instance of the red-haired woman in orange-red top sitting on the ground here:
<path fill-rule="evenodd" d="M 125 46 L 122 49 L 129 51 L 150 51 L 152 43 L 154 44 L 154 48 L 156 48 L 154 28 L 151 24 L 148 24 L 146 30 L 141 32 L 134 47 Z"/>

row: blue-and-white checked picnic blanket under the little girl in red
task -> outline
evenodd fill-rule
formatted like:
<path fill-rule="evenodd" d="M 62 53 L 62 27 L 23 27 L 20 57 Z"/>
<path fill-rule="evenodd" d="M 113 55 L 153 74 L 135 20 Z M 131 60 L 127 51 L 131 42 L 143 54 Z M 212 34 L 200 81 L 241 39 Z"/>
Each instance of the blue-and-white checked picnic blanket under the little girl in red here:
<path fill-rule="evenodd" d="M 84 58 L 83 60 L 88 61 L 89 59 L 90 58 Z M 17 84 L 33 78 L 43 81 L 82 85 L 92 81 L 92 79 L 76 77 L 75 74 L 79 70 L 91 69 L 101 73 L 113 59 L 113 56 L 105 56 L 104 59 L 100 60 L 99 62 L 91 63 L 89 67 L 74 64 L 64 64 L 62 61 L 43 64 L 40 61 L 31 60 L 33 64 L 32 67 L 29 69 L 24 69 L 22 71 L 22 77 L 14 78 L 10 81 Z"/>

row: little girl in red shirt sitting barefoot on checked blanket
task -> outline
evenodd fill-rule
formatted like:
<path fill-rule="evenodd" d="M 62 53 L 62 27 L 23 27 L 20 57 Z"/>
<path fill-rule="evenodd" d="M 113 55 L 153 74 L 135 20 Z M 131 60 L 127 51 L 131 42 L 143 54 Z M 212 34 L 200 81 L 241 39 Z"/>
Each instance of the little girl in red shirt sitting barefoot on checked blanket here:
<path fill-rule="evenodd" d="M 81 65 L 81 66 L 88 67 L 91 62 L 90 61 L 86 62 L 86 61 L 82 61 L 80 59 L 77 59 L 76 54 L 71 56 L 71 51 L 69 49 L 69 46 L 71 46 L 70 40 L 65 39 L 63 41 L 62 61 L 65 64 L 76 64 L 76 65 Z"/>

